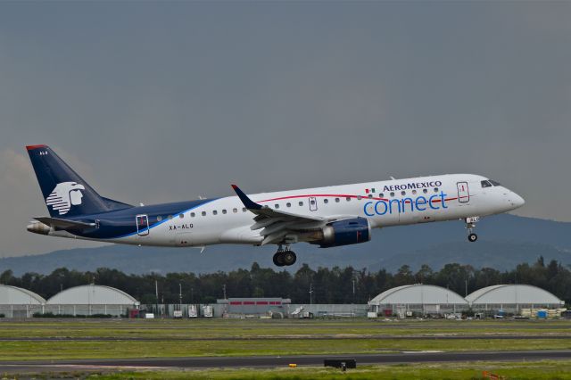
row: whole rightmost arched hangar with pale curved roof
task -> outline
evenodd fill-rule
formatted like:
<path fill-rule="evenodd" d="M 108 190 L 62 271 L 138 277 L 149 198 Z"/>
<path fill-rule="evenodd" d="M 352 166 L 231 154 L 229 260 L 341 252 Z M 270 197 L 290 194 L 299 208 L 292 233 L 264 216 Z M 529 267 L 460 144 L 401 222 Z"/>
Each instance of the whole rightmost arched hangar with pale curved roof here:
<path fill-rule="evenodd" d="M 492 313 L 502 310 L 519 314 L 523 310 L 557 310 L 565 302 L 533 285 L 492 285 L 468 294 L 466 301 L 476 312 Z"/>

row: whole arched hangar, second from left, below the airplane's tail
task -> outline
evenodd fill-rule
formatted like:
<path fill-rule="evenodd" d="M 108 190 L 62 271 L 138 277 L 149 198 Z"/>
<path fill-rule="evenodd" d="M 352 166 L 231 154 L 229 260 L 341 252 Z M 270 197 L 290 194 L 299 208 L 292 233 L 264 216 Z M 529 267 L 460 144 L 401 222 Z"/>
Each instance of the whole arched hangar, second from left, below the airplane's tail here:
<path fill-rule="evenodd" d="M 47 300 L 44 313 L 54 315 L 93 316 L 97 314 L 120 317 L 138 309 L 139 302 L 128 293 L 110 286 L 81 285 L 65 289 Z"/>

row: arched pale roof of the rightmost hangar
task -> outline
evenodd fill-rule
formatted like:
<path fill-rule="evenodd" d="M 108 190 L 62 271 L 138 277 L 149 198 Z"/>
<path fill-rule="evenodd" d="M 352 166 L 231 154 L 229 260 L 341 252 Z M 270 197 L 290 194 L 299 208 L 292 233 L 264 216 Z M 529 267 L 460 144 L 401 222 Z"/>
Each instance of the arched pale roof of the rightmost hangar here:
<path fill-rule="evenodd" d="M 468 294 L 470 304 L 538 303 L 562 304 L 555 295 L 534 285 L 492 285 Z"/>

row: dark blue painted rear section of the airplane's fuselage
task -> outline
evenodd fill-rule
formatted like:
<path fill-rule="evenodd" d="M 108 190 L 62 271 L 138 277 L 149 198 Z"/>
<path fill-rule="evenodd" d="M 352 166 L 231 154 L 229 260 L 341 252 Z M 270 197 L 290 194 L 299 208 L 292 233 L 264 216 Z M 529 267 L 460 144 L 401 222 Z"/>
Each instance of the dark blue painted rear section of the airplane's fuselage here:
<path fill-rule="evenodd" d="M 99 228 L 91 228 L 84 231 L 69 231 L 73 235 L 92 239 L 118 239 L 137 235 L 137 215 L 147 215 L 149 218 L 149 229 L 160 226 L 168 222 L 169 216 L 178 218 L 179 214 L 194 210 L 207 203 L 216 201 L 219 198 L 196 200 L 190 202 L 163 203 L 149 206 L 133 207 L 125 210 L 104 212 L 101 214 L 82 215 L 70 220 L 85 221 L 94 223 L 99 220 Z M 162 220 L 157 220 L 161 216 Z"/>

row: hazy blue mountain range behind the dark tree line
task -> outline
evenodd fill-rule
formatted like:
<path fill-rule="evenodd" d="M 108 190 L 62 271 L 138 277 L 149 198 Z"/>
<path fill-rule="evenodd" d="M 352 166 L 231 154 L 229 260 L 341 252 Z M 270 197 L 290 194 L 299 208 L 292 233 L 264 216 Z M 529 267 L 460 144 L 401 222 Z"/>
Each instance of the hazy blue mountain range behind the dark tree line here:
<path fill-rule="evenodd" d="M 386 268 L 396 271 L 403 264 L 417 270 L 422 264 L 440 269 L 451 262 L 475 268 L 515 268 L 532 263 L 539 256 L 571 265 L 571 223 L 545 219 L 499 215 L 482 219 L 476 232 L 479 239 L 469 243 L 460 221 L 374 230 L 365 244 L 320 249 L 310 244 L 295 244 L 297 270 L 302 263 L 311 268 L 346 267 Z M 50 237 L 46 237 L 50 238 Z M 26 272 L 51 273 L 55 268 L 80 271 L 117 268 L 125 273 L 194 272 L 211 273 L 250 268 L 254 261 L 273 268 L 275 246 L 214 245 L 204 252 L 190 248 L 154 248 L 134 245 L 106 245 L 55 251 L 39 255 L 0 259 L 0 272 L 12 269 L 16 276 Z"/>

